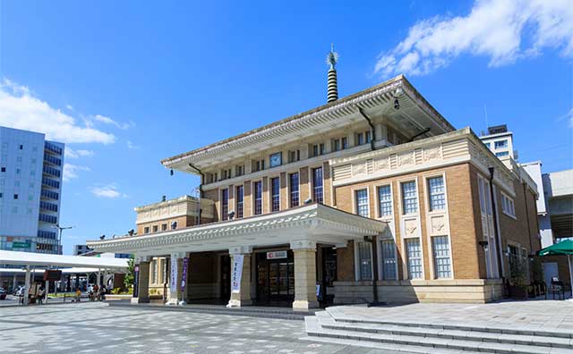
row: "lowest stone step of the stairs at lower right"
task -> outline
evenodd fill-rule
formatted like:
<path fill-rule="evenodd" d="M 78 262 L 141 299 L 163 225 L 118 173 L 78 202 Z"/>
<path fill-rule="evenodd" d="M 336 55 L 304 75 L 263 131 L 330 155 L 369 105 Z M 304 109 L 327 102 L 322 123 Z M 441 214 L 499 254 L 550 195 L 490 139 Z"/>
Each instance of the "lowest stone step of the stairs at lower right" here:
<path fill-rule="evenodd" d="M 489 353 L 522 353 L 522 354 L 557 354 L 571 353 L 569 349 L 552 348 L 532 344 L 510 344 L 489 341 L 460 340 L 439 337 L 421 337 L 419 335 L 404 335 L 391 333 L 364 333 L 340 329 L 323 328 L 316 316 L 306 316 L 305 325 L 307 335 L 312 338 L 328 338 L 337 340 L 352 340 L 360 343 L 382 343 L 385 346 L 398 345 L 405 351 L 412 351 L 411 347 L 432 348 L 433 350 L 464 350 L 464 352 L 489 352 Z M 414 351 L 416 352 L 416 351 Z"/>

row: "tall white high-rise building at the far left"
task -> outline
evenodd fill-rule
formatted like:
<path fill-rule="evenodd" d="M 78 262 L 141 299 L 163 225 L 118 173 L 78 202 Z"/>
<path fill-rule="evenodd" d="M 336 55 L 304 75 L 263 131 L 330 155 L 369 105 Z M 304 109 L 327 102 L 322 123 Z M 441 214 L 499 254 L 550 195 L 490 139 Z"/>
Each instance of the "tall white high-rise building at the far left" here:
<path fill-rule="evenodd" d="M 0 249 L 61 253 L 64 144 L 0 127 Z"/>

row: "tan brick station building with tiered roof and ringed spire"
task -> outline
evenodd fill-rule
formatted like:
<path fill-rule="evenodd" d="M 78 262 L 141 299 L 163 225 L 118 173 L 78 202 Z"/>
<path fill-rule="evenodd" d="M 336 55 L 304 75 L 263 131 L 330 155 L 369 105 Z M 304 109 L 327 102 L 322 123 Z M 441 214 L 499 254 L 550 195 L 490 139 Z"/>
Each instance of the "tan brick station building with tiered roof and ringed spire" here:
<path fill-rule="evenodd" d="M 174 228 L 149 207 L 137 235 L 88 242 L 136 255 L 133 302 L 149 301 L 154 259 L 177 266 L 171 303 L 486 302 L 540 249 L 535 182 L 402 75 L 338 99 L 332 65 L 328 104 L 161 163 L 201 176 L 197 215 Z"/>

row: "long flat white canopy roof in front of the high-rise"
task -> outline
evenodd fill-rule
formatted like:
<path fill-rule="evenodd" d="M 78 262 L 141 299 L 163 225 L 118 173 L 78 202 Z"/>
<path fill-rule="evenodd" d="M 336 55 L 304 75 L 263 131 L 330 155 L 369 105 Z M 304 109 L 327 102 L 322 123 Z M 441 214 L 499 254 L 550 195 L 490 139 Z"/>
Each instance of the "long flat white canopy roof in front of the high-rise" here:
<path fill-rule="evenodd" d="M 0 265 L 77 266 L 91 268 L 91 272 L 97 272 L 98 269 L 127 268 L 127 259 L 62 256 L 0 250 Z"/>

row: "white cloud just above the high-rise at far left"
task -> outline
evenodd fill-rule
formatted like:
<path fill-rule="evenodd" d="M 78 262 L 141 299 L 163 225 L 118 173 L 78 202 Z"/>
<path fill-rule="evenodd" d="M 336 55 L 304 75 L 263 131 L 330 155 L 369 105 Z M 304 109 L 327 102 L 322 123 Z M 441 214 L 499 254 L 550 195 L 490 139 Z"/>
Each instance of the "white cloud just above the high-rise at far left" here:
<path fill-rule="evenodd" d="M 71 115 L 34 96 L 25 86 L 11 80 L 0 82 L 0 125 L 45 133 L 47 139 L 64 143 L 102 143 L 115 141 L 113 134 L 81 126 Z"/>

